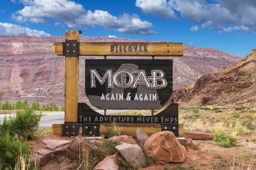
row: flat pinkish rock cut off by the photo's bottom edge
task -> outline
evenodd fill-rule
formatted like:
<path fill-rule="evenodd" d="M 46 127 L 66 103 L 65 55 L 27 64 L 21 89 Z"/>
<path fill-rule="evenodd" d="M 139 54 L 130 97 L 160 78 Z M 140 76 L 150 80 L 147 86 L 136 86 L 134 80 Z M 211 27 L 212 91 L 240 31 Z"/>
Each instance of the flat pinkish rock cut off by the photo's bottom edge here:
<path fill-rule="evenodd" d="M 114 155 L 112 156 L 107 156 L 104 158 L 98 165 L 94 168 L 95 170 L 100 169 L 100 170 L 118 170 L 119 167 L 116 165 L 114 158 Z"/>

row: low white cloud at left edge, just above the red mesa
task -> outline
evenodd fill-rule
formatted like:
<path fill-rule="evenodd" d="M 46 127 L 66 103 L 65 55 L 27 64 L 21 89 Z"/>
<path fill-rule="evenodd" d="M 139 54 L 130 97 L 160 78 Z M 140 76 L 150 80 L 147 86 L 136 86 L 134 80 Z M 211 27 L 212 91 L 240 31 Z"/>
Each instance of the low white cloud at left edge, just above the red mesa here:
<path fill-rule="evenodd" d="M 3 35 L 29 35 L 29 36 L 51 36 L 44 31 L 31 30 L 28 27 L 22 27 L 16 24 L 0 22 L 0 34 Z"/>

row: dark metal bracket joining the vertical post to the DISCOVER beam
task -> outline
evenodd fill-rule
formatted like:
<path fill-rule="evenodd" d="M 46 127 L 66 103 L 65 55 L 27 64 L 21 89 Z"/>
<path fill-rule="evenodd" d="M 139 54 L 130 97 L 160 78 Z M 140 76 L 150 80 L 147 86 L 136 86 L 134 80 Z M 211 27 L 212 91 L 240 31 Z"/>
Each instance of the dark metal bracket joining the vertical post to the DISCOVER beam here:
<path fill-rule="evenodd" d="M 65 40 L 62 43 L 65 57 L 77 57 L 79 55 L 79 42 L 77 40 Z"/>

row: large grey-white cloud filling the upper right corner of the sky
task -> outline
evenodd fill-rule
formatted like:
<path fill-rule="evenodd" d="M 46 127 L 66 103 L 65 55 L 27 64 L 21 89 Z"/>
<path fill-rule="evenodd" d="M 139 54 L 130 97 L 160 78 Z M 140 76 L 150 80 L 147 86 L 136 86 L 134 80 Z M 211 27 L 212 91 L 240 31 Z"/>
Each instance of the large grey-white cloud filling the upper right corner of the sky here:
<path fill-rule="evenodd" d="M 209 28 L 220 33 L 256 32 L 255 0 L 136 0 L 135 5 L 157 17 L 186 18 L 196 24 L 191 31 Z"/>

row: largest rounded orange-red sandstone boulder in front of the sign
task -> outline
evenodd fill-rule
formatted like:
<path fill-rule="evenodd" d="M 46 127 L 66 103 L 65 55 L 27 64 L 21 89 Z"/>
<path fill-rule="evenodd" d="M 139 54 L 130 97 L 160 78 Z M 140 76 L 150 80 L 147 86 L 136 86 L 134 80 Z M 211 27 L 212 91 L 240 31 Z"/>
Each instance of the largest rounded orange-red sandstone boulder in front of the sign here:
<path fill-rule="evenodd" d="M 146 154 L 155 158 L 156 164 L 168 162 L 183 162 L 187 157 L 187 151 L 170 131 L 162 131 L 151 135 L 143 148 Z"/>

